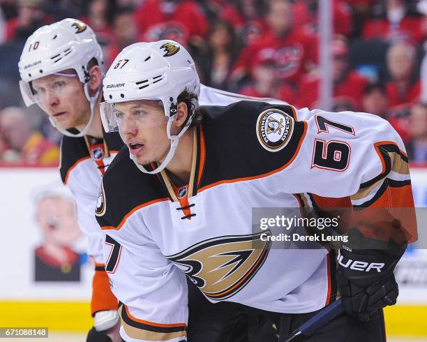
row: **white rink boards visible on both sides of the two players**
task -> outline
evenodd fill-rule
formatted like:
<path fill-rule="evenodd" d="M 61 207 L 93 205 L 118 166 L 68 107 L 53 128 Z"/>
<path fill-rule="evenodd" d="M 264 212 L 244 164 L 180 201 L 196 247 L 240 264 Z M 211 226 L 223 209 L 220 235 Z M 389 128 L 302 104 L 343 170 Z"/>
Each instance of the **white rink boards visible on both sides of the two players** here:
<path fill-rule="evenodd" d="M 427 207 L 427 169 L 413 169 L 412 188 L 417 207 Z M 34 248 L 40 244 L 40 229 L 35 220 L 35 198 L 46 186 L 60 186 L 56 168 L 0 168 L 0 214 L 3 260 L 0 300 L 89 300 L 93 266 L 91 260 L 82 265 L 80 282 L 35 282 Z M 419 226 L 420 239 L 422 235 Z M 73 245 L 85 251 L 84 237 Z M 427 240 L 424 240 L 427 246 Z M 427 304 L 427 250 L 412 249 L 406 253 L 396 278 L 400 283 L 400 304 Z M 421 265 L 421 267 L 420 267 Z M 425 267 L 423 268 L 423 265 Z"/>

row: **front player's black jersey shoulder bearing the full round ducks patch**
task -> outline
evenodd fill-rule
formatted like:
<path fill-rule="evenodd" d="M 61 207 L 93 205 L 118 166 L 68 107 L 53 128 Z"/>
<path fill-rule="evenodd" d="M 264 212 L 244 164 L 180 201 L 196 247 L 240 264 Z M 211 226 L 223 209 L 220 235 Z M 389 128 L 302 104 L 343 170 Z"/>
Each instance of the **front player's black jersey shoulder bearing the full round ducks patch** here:
<path fill-rule="evenodd" d="M 257 177 L 290 164 L 306 132 L 290 105 L 240 101 L 228 106 L 204 106 L 202 129 L 205 165 L 200 186 L 218 181 Z M 272 114 L 271 114 L 272 113 Z M 285 144 L 262 142 L 262 119 L 278 118 Z M 286 122 L 292 126 L 285 136 Z M 265 122 L 264 122 L 265 124 Z M 264 126 L 263 126 L 264 127 Z M 260 139 L 261 138 L 261 139 Z M 278 149 L 275 147 L 278 146 Z"/>

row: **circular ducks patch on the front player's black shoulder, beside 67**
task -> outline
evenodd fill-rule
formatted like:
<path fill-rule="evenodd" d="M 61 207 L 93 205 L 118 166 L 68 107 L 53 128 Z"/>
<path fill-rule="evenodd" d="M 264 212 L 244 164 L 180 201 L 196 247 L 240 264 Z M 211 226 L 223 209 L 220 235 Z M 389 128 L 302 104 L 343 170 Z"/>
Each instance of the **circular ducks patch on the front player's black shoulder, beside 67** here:
<path fill-rule="evenodd" d="M 294 119 L 282 110 L 269 109 L 257 120 L 257 137 L 264 149 L 280 151 L 287 145 L 294 131 Z"/>

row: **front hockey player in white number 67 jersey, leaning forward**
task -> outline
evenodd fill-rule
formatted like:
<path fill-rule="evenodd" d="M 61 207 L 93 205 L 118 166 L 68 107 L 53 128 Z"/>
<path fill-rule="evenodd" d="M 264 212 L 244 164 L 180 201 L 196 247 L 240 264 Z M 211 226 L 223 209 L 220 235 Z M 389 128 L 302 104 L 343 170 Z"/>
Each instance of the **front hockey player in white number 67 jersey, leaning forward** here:
<path fill-rule="evenodd" d="M 347 313 L 307 341 L 385 341 L 394 267 L 417 239 L 405 147 L 389 123 L 257 101 L 200 107 L 193 59 L 172 40 L 130 45 L 113 65 L 100 112 L 126 146 L 103 177 L 96 218 L 122 339 L 186 341 L 188 276 L 209 301 L 236 304 L 202 341 L 230 341 L 239 314 L 253 311 L 281 341 L 337 287 Z M 338 272 L 334 249 L 285 249 L 273 228 L 254 232 L 257 207 L 348 208 Z M 366 218 L 373 208 L 379 217 Z"/>

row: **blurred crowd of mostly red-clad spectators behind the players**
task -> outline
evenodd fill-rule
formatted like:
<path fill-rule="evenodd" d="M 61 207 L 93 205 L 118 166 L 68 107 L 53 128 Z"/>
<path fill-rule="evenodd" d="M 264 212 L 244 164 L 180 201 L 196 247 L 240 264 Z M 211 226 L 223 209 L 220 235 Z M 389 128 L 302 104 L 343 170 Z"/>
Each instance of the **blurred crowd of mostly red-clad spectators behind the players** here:
<path fill-rule="evenodd" d="M 177 40 L 193 54 L 202 83 L 312 109 L 320 106 L 318 6 L 317 0 L 0 0 L 0 163 L 58 163 L 61 135 L 40 108 L 24 107 L 18 86 L 17 61 L 38 27 L 65 17 L 86 22 L 107 67 L 132 43 Z M 332 15 L 333 110 L 384 117 L 410 161 L 427 163 L 427 1 L 333 0 Z"/>

